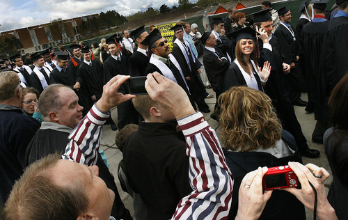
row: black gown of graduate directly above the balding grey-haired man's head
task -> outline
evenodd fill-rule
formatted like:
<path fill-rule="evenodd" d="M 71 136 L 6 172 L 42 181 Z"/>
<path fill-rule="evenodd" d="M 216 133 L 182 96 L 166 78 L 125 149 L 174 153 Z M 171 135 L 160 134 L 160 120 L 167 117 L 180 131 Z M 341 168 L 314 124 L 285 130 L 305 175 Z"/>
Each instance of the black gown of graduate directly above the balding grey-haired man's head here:
<path fill-rule="evenodd" d="M 84 107 L 82 113 L 84 114 L 84 116 L 86 116 L 89 109 L 93 106 L 93 101 L 90 96 L 88 97 L 84 95 L 84 85 L 81 82 L 81 78 L 77 76 L 77 72 L 75 72 L 74 68 L 70 68 L 68 65 L 68 68 L 66 68 L 65 71 L 62 70 L 61 72 L 59 72 L 57 68 L 54 68 L 51 72 L 51 79 L 52 83 L 70 86 L 72 90 L 74 90 L 74 84 L 76 84 L 77 82 L 81 84 L 79 91 L 74 90 L 74 92 L 79 97 L 79 105 L 81 105 L 81 107 Z"/>

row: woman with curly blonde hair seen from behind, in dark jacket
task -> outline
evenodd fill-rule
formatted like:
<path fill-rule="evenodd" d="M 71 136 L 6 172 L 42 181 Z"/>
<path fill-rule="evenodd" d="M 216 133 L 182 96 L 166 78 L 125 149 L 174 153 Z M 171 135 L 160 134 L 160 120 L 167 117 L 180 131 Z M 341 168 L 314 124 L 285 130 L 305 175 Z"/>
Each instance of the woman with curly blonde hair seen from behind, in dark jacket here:
<path fill-rule="evenodd" d="M 294 137 L 282 129 L 271 99 L 262 91 L 234 86 L 220 95 L 219 103 L 220 133 L 225 146 L 223 152 L 235 179 L 229 219 L 235 219 L 238 191 L 246 173 L 259 166 L 285 166 L 288 162 L 302 160 Z M 296 197 L 276 190 L 260 219 L 284 217 L 306 219 L 306 214 L 303 204 Z"/>

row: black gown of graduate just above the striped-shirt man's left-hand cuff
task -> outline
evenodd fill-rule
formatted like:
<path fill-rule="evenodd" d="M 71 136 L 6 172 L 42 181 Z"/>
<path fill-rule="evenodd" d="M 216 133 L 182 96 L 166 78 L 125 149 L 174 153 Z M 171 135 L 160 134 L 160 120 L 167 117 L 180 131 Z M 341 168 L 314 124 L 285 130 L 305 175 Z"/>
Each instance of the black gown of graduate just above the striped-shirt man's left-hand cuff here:
<path fill-rule="evenodd" d="M 102 97 L 104 78 L 103 68 L 99 61 L 92 60 L 92 66 L 82 63 L 79 67 L 81 85 L 84 86 L 86 96 L 93 96 L 99 100 Z"/>

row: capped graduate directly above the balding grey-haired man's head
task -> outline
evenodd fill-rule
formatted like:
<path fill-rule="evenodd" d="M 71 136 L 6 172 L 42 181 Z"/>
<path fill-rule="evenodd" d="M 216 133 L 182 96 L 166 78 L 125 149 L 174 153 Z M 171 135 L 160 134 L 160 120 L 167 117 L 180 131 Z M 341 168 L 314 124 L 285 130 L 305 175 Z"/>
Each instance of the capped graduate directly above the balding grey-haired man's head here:
<path fill-rule="evenodd" d="M 68 52 L 56 52 L 57 54 L 57 65 L 51 72 L 52 84 L 63 84 L 70 86 L 72 90 L 79 97 L 79 105 L 84 107 L 82 111 L 83 115 L 86 116 L 89 109 L 92 107 L 93 102 L 90 97 L 84 95 L 81 86 L 81 78 L 78 77 L 77 72 L 74 68 L 68 65 L 69 53 Z"/>

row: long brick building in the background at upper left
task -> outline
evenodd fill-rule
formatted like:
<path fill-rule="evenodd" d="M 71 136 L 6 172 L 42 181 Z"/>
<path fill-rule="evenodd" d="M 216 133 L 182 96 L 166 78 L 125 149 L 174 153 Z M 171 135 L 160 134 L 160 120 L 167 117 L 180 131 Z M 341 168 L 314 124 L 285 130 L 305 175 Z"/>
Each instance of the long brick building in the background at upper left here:
<path fill-rule="evenodd" d="M 42 51 L 49 47 L 66 44 L 72 42 L 72 40 L 79 40 L 81 38 L 79 33 L 81 22 L 93 17 L 99 17 L 99 15 L 94 14 L 65 19 L 61 24 L 61 31 L 51 30 L 56 28 L 58 24 L 56 26 L 50 26 L 50 23 L 47 23 L 29 26 L 22 29 L 4 31 L 0 33 L 0 36 L 7 38 L 15 36 L 15 38 L 19 39 L 23 45 L 23 48 L 20 49 L 20 53 L 24 55 L 26 53 Z M 62 36 L 63 42 L 60 36 Z"/>

